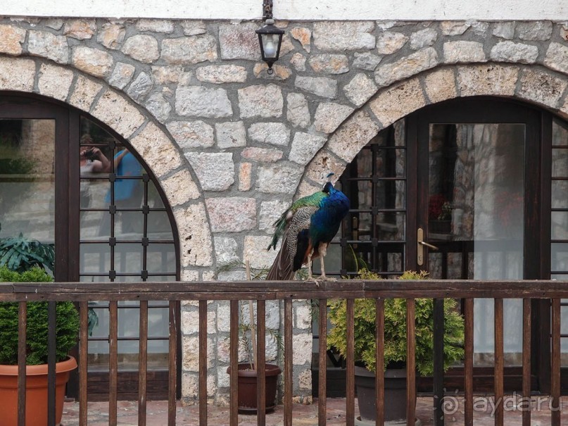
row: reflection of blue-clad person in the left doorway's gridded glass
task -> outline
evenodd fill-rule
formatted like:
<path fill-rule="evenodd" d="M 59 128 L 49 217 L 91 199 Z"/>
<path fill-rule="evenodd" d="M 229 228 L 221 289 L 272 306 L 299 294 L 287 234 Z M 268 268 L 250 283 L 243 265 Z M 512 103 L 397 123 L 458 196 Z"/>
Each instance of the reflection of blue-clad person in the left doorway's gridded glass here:
<path fill-rule="evenodd" d="M 114 205 L 120 211 L 123 208 L 139 208 L 144 194 L 144 187 L 139 179 L 120 179 L 119 176 L 141 176 L 142 166 L 127 149 L 122 149 L 114 157 L 114 170 L 117 179 L 114 182 Z M 106 193 L 105 203 L 111 204 L 111 191 Z M 129 220 L 125 220 L 121 213 L 122 233 L 136 232 L 136 225 L 130 215 Z M 137 221 L 138 222 L 138 221 Z M 116 223 L 116 222 L 115 222 Z M 108 234 L 111 224 L 111 216 L 103 215 L 99 234 Z"/>

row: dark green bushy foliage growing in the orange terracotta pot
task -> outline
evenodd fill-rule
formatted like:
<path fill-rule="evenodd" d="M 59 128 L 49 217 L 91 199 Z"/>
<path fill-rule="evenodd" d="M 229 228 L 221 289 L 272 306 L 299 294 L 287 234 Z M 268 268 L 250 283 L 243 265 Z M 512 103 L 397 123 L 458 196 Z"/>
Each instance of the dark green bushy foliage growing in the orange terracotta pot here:
<path fill-rule="evenodd" d="M 24 272 L 0 268 L 0 282 L 52 282 L 37 266 Z M 63 361 L 77 343 L 79 315 L 72 302 L 56 303 L 56 359 Z M 18 364 L 18 303 L 0 303 L 0 364 Z M 27 303 L 26 362 L 47 363 L 47 302 Z"/>

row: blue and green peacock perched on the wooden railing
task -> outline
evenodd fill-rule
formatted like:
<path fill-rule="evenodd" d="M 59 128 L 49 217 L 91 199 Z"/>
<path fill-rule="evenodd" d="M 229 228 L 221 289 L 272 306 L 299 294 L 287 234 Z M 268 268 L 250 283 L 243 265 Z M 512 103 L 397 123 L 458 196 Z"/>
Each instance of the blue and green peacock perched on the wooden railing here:
<path fill-rule="evenodd" d="M 333 175 L 329 173 L 321 191 L 298 199 L 274 222 L 276 229 L 267 250 L 276 250 L 278 240 L 283 240 L 267 280 L 292 280 L 296 270 L 308 265 L 308 280 L 317 284 L 312 276 L 312 261 L 317 257 L 322 263 L 321 279 L 328 279 L 324 268 L 327 246 L 349 211 L 349 199 L 329 180 Z"/>

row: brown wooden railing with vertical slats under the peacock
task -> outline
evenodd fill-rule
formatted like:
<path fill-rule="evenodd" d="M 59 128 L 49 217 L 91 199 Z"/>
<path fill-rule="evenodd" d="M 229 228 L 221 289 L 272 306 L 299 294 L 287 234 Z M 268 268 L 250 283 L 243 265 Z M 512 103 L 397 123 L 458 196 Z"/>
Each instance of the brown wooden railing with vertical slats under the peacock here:
<path fill-rule="evenodd" d="M 320 306 L 326 306 L 328 299 L 347 299 L 348 356 L 346 357 L 346 424 L 353 425 L 355 418 L 354 385 L 354 341 L 353 301 L 374 299 L 377 307 L 377 425 L 383 425 L 384 412 L 384 299 L 406 299 L 407 306 L 407 418 L 408 425 L 415 419 L 415 299 L 465 299 L 465 425 L 473 425 L 473 299 L 495 300 L 495 392 L 496 401 L 503 399 L 503 299 L 524 299 L 523 304 L 523 356 L 522 356 L 522 397 L 531 396 L 531 299 L 551 299 L 552 345 L 551 345 L 551 392 L 553 408 L 550 425 L 560 426 L 560 299 L 568 298 L 568 282 L 533 281 L 449 281 L 449 280 L 341 280 L 323 282 L 320 287 L 305 282 L 163 282 L 163 283 L 1 283 L 0 301 L 16 301 L 20 304 L 18 365 L 19 426 L 25 425 L 25 318 L 28 301 L 49 301 L 49 426 L 54 426 L 55 395 L 55 301 L 75 301 L 80 306 L 80 425 L 87 425 L 87 303 L 88 301 L 110 301 L 111 327 L 110 348 L 110 401 L 109 424 L 117 421 L 117 349 L 118 349 L 118 301 L 140 301 L 140 358 L 139 358 L 139 425 L 146 425 L 146 346 L 148 336 L 148 301 L 170 301 L 170 357 L 169 357 L 169 410 L 168 425 L 176 421 L 176 358 L 179 323 L 175 320 L 177 301 L 199 301 L 199 425 L 207 425 L 207 301 L 230 301 L 230 411 L 229 424 L 236 426 L 238 347 L 239 347 L 239 301 L 255 300 L 257 306 L 258 364 L 265 362 L 265 302 L 284 301 L 284 425 L 292 425 L 292 301 L 294 299 L 317 299 Z M 326 365 L 326 312 L 320 309 L 320 365 Z M 436 362 L 435 362 L 436 363 Z M 436 373 L 434 373 L 436 375 Z M 258 425 L 265 425 L 265 374 L 258 372 Z M 434 380 L 436 382 L 436 380 Z M 325 369 L 320 370 L 318 414 L 319 425 L 326 424 Z M 436 416 L 434 416 L 436 417 Z M 503 404 L 496 406 L 495 424 L 503 425 Z M 531 411 L 522 413 L 522 425 L 531 424 Z"/>

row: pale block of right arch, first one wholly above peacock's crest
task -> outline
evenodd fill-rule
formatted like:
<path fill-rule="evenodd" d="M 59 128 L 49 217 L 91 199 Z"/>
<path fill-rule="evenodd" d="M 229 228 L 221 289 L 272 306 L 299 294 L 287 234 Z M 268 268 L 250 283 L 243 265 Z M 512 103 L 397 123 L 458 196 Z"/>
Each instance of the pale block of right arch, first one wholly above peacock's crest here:
<path fill-rule="evenodd" d="M 381 128 L 381 125 L 373 120 L 366 111 L 358 111 L 329 138 L 327 149 L 349 162 Z"/>

